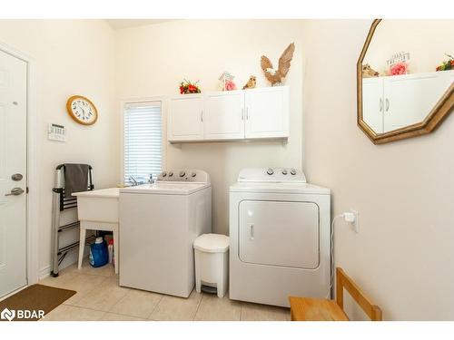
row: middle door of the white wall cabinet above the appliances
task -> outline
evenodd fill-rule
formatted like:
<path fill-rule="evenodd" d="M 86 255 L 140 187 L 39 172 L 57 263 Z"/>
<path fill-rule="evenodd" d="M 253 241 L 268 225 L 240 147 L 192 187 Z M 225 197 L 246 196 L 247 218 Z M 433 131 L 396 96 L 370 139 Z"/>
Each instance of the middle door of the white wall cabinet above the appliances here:
<path fill-rule="evenodd" d="M 243 92 L 207 94 L 203 124 L 205 140 L 239 140 L 244 138 Z"/>

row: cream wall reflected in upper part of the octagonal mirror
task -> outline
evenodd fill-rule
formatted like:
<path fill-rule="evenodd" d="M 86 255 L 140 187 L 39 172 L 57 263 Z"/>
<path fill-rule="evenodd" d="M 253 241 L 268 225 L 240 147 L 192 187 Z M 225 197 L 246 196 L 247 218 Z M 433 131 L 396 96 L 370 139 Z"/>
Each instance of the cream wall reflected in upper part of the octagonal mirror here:
<path fill-rule="evenodd" d="M 410 73 L 433 72 L 454 51 L 454 20 L 383 20 L 370 41 L 363 63 L 386 74 L 386 61 L 401 51 L 410 53 Z"/>

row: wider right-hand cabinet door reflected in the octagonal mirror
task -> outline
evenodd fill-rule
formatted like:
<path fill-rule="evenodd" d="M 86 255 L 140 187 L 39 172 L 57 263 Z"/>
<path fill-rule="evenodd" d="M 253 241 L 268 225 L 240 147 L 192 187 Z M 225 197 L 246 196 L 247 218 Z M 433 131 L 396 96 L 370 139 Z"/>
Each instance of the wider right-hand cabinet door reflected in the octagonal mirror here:
<path fill-rule="evenodd" d="M 447 90 L 446 78 L 441 73 L 385 78 L 385 132 L 424 121 Z"/>

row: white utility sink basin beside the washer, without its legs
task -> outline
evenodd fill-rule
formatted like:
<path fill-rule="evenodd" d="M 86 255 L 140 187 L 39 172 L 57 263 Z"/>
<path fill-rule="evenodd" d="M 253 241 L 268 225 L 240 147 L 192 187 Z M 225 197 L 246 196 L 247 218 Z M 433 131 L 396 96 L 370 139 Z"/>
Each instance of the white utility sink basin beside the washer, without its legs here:
<path fill-rule="evenodd" d="M 118 188 L 74 192 L 79 220 L 118 223 Z"/>

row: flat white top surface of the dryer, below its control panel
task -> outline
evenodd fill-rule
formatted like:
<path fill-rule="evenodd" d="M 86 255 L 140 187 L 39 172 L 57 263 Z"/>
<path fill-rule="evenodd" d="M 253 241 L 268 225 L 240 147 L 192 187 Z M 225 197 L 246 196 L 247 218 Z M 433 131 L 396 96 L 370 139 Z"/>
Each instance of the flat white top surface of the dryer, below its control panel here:
<path fill-rule="evenodd" d="M 238 182 L 230 187 L 230 192 L 261 192 L 287 194 L 316 194 L 330 195 L 330 189 L 309 183 L 266 183 L 266 182 Z"/>

